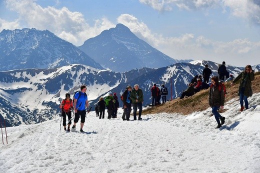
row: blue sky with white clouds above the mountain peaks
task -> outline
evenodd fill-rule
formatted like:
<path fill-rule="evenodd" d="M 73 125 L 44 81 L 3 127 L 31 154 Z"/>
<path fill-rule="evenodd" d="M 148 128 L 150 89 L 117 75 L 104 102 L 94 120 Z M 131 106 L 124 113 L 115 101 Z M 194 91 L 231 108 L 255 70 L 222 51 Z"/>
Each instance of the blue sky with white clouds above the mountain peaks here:
<path fill-rule="evenodd" d="M 76 46 L 117 23 L 175 59 L 260 64 L 260 0 L 0 0 L 0 31 L 48 29 Z"/>

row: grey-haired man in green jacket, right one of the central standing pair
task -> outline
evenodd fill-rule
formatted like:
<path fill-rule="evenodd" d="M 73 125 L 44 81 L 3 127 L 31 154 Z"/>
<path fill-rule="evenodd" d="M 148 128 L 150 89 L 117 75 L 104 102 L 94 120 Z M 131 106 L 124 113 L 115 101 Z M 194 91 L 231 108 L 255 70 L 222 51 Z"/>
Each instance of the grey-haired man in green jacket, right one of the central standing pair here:
<path fill-rule="evenodd" d="M 137 107 L 139 107 L 138 120 L 142 120 L 141 111 L 142 111 L 142 103 L 143 103 L 143 94 L 138 84 L 134 85 L 130 93 L 130 98 L 132 100 L 133 120 L 136 120 Z"/>

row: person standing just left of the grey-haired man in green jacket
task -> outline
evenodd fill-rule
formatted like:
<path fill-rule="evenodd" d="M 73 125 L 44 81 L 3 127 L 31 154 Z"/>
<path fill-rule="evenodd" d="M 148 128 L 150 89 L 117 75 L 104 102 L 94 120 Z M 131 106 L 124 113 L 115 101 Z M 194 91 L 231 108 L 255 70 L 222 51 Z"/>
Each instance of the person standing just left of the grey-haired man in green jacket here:
<path fill-rule="evenodd" d="M 123 94 L 122 94 L 122 102 L 123 102 L 123 114 L 122 114 L 122 119 L 123 120 L 130 120 L 130 112 L 132 110 L 131 108 L 131 102 L 132 100 L 130 99 L 130 94 L 131 94 L 132 87 L 128 85 Z"/>

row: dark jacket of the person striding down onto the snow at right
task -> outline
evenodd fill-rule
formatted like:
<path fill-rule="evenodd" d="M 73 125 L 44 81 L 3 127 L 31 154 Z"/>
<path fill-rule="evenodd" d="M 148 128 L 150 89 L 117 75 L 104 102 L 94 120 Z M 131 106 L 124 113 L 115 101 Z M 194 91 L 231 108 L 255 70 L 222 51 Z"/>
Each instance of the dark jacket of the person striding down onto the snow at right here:
<path fill-rule="evenodd" d="M 220 90 L 218 88 L 218 85 L 215 86 L 213 84 L 210 85 L 209 88 L 209 97 L 208 97 L 208 103 L 210 107 L 224 105 L 225 96 L 224 96 L 224 87 L 221 86 Z"/>

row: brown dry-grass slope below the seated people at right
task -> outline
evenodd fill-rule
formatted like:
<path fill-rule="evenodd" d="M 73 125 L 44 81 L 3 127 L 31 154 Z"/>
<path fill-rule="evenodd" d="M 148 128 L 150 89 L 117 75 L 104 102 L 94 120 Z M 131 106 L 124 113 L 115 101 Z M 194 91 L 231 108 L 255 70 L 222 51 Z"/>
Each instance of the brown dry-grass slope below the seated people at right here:
<path fill-rule="evenodd" d="M 230 86 L 230 81 L 225 82 L 227 94 L 225 96 L 225 102 L 232 98 L 239 98 L 237 95 L 238 84 L 237 81 L 233 86 Z M 255 73 L 255 79 L 252 81 L 253 93 L 260 92 L 260 72 Z M 209 107 L 208 105 L 208 89 L 201 90 L 192 96 L 183 99 L 173 99 L 167 101 L 164 104 L 153 106 L 142 111 L 142 114 L 153 114 L 160 112 L 167 113 L 182 113 L 184 115 L 192 113 L 194 111 L 205 110 Z"/>

